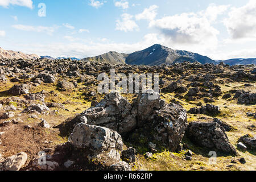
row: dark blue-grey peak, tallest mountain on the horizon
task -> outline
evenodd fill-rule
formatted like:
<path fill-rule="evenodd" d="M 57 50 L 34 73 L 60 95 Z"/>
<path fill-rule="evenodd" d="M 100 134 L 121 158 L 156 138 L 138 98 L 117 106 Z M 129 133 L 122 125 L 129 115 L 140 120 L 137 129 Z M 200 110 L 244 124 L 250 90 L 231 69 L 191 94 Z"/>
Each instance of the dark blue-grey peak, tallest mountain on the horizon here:
<path fill-rule="evenodd" d="M 187 57 L 202 64 L 216 64 L 215 61 L 207 56 L 201 56 L 198 53 L 188 51 L 174 50 L 159 44 L 155 44 L 154 46 L 148 47 L 142 51 L 131 53 L 126 58 L 126 63 L 136 65 L 160 65 L 163 63 L 174 64 L 174 61 L 179 59 L 179 57 L 183 57 L 183 59 L 184 57 Z"/>

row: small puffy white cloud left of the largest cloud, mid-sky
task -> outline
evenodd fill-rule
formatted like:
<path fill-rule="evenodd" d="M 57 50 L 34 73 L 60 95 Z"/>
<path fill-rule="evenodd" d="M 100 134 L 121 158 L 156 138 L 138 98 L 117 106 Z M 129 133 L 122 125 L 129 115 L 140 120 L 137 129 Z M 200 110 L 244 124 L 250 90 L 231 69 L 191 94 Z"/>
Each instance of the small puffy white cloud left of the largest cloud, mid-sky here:
<path fill-rule="evenodd" d="M 139 31 L 139 26 L 134 22 L 133 15 L 124 13 L 121 15 L 122 20 L 117 20 L 115 30 L 120 31 Z"/>

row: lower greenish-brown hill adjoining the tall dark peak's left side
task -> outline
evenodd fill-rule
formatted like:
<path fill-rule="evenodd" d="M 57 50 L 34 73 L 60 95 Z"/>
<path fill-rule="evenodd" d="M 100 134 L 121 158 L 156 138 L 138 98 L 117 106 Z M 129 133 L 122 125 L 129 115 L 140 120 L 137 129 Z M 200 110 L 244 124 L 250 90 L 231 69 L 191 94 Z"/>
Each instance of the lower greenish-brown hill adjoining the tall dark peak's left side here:
<path fill-rule="evenodd" d="M 104 53 L 103 55 L 96 57 L 86 57 L 81 59 L 82 61 L 97 61 L 101 63 L 110 63 L 110 64 L 125 64 L 126 57 L 129 56 L 125 53 L 118 53 L 114 51 L 110 51 L 108 53 Z"/>

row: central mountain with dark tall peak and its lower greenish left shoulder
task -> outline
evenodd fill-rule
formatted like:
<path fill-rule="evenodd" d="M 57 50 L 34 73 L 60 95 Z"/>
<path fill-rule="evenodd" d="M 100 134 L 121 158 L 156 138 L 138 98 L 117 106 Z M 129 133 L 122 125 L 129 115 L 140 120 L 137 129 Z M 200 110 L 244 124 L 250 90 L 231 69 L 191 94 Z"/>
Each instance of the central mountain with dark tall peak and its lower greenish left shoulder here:
<path fill-rule="evenodd" d="M 199 63 L 213 63 L 215 61 L 207 56 L 199 55 L 198 53 L 180 51 L 164 47 L 159 44 L 148 47 L 142 51 L 137 51 L 131 54 L 108 52 L 96 57 L 87 57 L 82 60 L 99 61 L 111 64 L 135 64 L 135 65 L 160 65 L 160 64 L 175 64 L 184 61 L 191 63 L 198 61 Z"/>

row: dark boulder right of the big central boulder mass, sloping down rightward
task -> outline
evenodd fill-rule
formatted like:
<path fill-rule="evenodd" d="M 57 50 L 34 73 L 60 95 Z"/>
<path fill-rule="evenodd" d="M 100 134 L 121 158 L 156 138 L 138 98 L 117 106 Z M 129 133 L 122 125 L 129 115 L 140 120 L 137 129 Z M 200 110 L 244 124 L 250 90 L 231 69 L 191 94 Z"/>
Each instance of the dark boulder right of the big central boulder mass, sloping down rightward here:
<path fill-rule="evenodd" d="M 189 139 L 202 147 L 236 155 L 236 149 L 230 144 L 225 129 L 216 122 L 191 122 L 188 125 Z"/>

